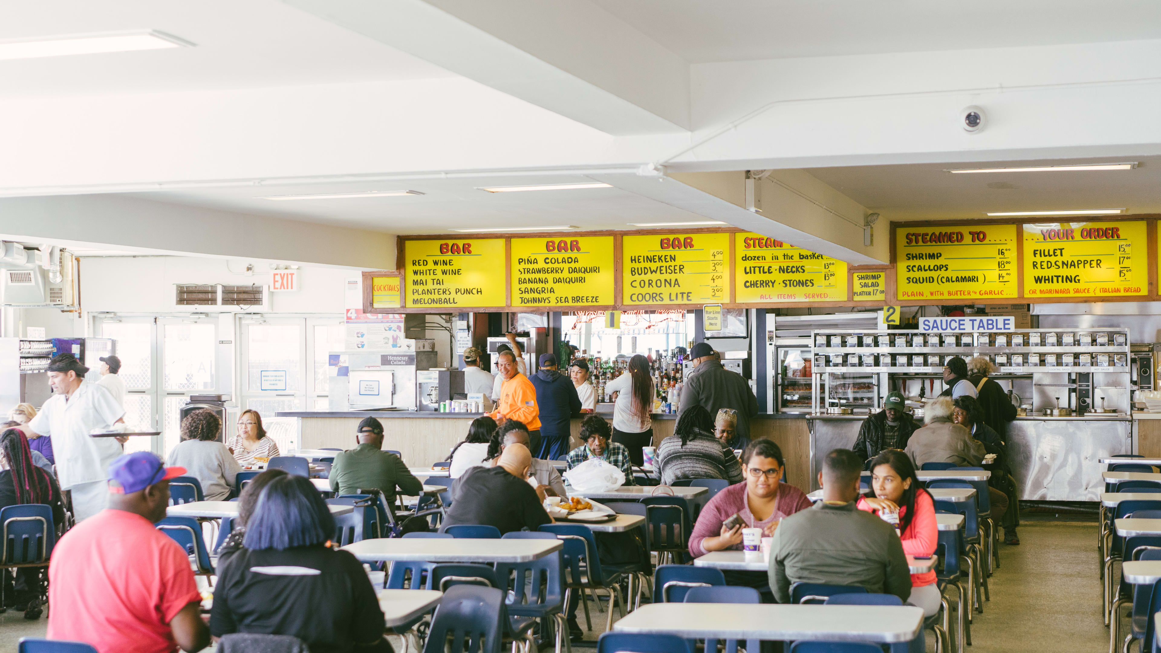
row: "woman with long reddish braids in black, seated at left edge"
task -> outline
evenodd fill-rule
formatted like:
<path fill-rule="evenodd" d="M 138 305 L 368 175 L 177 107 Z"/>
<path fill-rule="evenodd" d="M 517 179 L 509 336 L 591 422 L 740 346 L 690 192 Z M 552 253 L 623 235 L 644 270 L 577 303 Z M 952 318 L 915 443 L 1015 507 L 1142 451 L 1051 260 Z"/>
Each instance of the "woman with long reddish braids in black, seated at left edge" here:
<path fill-rule="evenodd" d="M 28 439 L 19 429 L 6 429 L 0 435 L 0 508 L 22 503 L 44 503 L 52 508 L 52 521 L 64 523 L 65 510 L 60 487 L 51 474 L 33 462 Z M 24 612 L 26 619 L 39 618 L 41 596 L 44 594 L 43 574 L 46 567 L 20 567 L 16 569 L 15 608 Z M 9 593 L 9 576 L 5 572 L 6 596 Z"/>

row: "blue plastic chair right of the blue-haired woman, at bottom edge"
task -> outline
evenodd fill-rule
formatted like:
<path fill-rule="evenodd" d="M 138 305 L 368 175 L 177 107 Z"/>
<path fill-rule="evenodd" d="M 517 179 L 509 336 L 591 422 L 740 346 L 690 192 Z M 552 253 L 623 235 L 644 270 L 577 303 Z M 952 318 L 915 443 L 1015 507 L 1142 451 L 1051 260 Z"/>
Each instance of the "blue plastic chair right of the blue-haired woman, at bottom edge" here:
<path fill-rule="evenodd" d="M 504 593 L 490 587 L 454 586 L 444 593 L 424 653 L 499 653 L 505 626 Z"/>

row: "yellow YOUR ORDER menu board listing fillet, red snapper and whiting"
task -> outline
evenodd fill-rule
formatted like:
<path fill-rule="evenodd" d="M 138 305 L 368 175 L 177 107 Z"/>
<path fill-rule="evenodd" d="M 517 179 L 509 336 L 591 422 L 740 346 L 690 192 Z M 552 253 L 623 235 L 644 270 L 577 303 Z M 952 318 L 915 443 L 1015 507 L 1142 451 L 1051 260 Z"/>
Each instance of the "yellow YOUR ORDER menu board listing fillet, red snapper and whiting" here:
<path fill-rule="evenodd" d="M 1140 222 L 1024 225 L 1024 296 L 1148 294 L 1148 228 Z"/>

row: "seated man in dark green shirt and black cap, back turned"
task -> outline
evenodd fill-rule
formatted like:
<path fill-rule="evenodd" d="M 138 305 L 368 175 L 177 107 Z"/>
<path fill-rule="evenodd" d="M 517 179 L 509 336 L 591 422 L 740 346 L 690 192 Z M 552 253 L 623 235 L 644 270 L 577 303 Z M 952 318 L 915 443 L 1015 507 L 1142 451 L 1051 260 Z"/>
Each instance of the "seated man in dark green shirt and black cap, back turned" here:
<path fill-rule="evenodd" d="M 378 488 L 383 500 L 395 502 L 395 488 L 404 496 L 419 496 L 424 485 L 394 453 L 383 451 L 383 424 L 374 417 L 359 423 L 355 446 L 334 455 L 331 464 L 331 490 L 339 494 L 360 494 L 361 489 Z"/>

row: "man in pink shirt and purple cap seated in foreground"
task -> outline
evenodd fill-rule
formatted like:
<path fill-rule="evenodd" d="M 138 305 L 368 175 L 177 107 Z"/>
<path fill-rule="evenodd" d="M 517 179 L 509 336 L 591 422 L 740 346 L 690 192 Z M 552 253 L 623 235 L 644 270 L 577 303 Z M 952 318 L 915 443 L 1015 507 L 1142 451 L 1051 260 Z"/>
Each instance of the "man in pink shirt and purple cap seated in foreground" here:
<path fill-rule="evenodd" d="M 68 531 L 49 565 L 49 639 L 100 653 L 193 653 L 209 645 L 189 558 L 153 524 L 170 479 L 185 474 L 140 451 L 109 465 L 109 508 Z"/>

